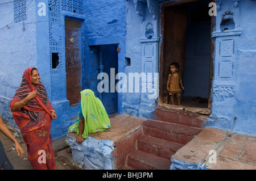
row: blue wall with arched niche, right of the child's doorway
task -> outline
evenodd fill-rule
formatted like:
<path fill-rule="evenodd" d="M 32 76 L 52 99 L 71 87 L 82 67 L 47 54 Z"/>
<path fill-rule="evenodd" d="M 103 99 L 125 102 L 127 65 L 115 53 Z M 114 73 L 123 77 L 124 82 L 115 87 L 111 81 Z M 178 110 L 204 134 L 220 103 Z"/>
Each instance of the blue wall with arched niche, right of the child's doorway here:
<path fill-rule="evenodd" d="M 255 74 L 255 1 L 222 1 L 217 11 L 212 87 L 213 127 L 235 132 L 256 134 L 256 74 Z M 234 29 L 221 31 L 221 17 L 231 11 Z"/>

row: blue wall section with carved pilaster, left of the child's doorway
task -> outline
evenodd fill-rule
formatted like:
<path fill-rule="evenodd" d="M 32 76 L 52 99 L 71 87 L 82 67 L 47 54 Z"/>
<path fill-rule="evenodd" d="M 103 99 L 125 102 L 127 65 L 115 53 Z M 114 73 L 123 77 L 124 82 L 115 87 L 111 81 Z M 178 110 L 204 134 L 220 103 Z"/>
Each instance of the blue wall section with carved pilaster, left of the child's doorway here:
<path fill-rule="evenodd" d="M 158 2 L 151 1 L 154 6 L 152 10 L 148 9 L 147 3 L 135 1 L 126 1 L 126 57 L 130 58 L 130 65 L 125 67 L 125 74 L 129 77 L 129 73 L 142 74 L 158 73 L 158 46 L 159 46 L 159 16 Z M 149 33 L 150 32 L 150 33 Z M 148 35 L 151 39 L 147 39 Z M 150 77 L 152 77 L 152 75 Z M 130 77 L 129 77 L 130 78 Z M 127 85 L 129 90 L 129 78 Z M 148 78 L 148 77 L 147 77 Z M 128 91 L 123 94 L 125 97 L 123 102 L 123 110 L 141 117 L 151 117 L 152 111 L 155 109 L 155 101 L 157 100 L 158 92 L 148 91 L 148 82 L 158 90 L 158 79 L 156 82 L 148 81 L 148 79 L 140 78 L 139 85 L 141 89 L 135 92 L 135 79 L 133 82 L 133 91 Z M 145 85 L 144 87 L 142 85 Z M 148 99 L 148 96 L 156 94 L 156 98 Z"/>

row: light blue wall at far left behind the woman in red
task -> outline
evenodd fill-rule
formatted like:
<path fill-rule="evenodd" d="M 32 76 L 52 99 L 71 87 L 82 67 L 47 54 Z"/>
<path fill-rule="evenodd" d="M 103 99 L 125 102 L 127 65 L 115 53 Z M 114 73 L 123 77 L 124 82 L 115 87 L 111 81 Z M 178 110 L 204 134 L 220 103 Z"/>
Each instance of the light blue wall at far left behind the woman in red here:
<path fill-rule="evenodd" d="M 9 1 L 1 1 L 1 3 Z M 36 66 L 35 2 L 28 3 L 26 20 L 15 21 L 20 14 L 14 3 L 0 5 L 0 114 L 9 125 L 16 127 L 10 112 L 10 102 L 18 89 L 23 71 Z"/>

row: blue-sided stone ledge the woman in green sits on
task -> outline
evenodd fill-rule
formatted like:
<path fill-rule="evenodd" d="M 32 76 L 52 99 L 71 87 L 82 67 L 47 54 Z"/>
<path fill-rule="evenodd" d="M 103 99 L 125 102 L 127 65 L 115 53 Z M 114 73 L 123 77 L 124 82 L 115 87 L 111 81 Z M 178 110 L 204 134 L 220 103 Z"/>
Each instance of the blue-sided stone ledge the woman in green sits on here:
<path fill-rule="evenodd" d="M 89 134 L 82 144 L 77 143 L 76 133 L 68 133 L 67 143 L 72 149 L 73 162 L 88 170 L 116 169 L 117 159 L 114 157 L 118 157 L 119 154 L 113 154 L 115 146 L 119 141 L 138 131 L 143 121 L 146 119 L 127 114 L 117 115 L 110 118 L 109 129 Z"/>

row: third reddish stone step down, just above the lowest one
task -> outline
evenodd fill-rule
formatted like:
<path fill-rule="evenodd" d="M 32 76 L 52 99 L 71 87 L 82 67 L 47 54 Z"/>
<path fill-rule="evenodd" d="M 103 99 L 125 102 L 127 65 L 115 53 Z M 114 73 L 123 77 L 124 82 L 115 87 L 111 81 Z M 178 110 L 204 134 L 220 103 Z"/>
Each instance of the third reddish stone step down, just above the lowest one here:
<path fill-rule="evenodd" d="M 137 140 L 138 150 L 168 160 L 170 160 L 172 154 L 176 153 L 182 146 L 184 145 L 146 135 L 142 135 Z"/>

